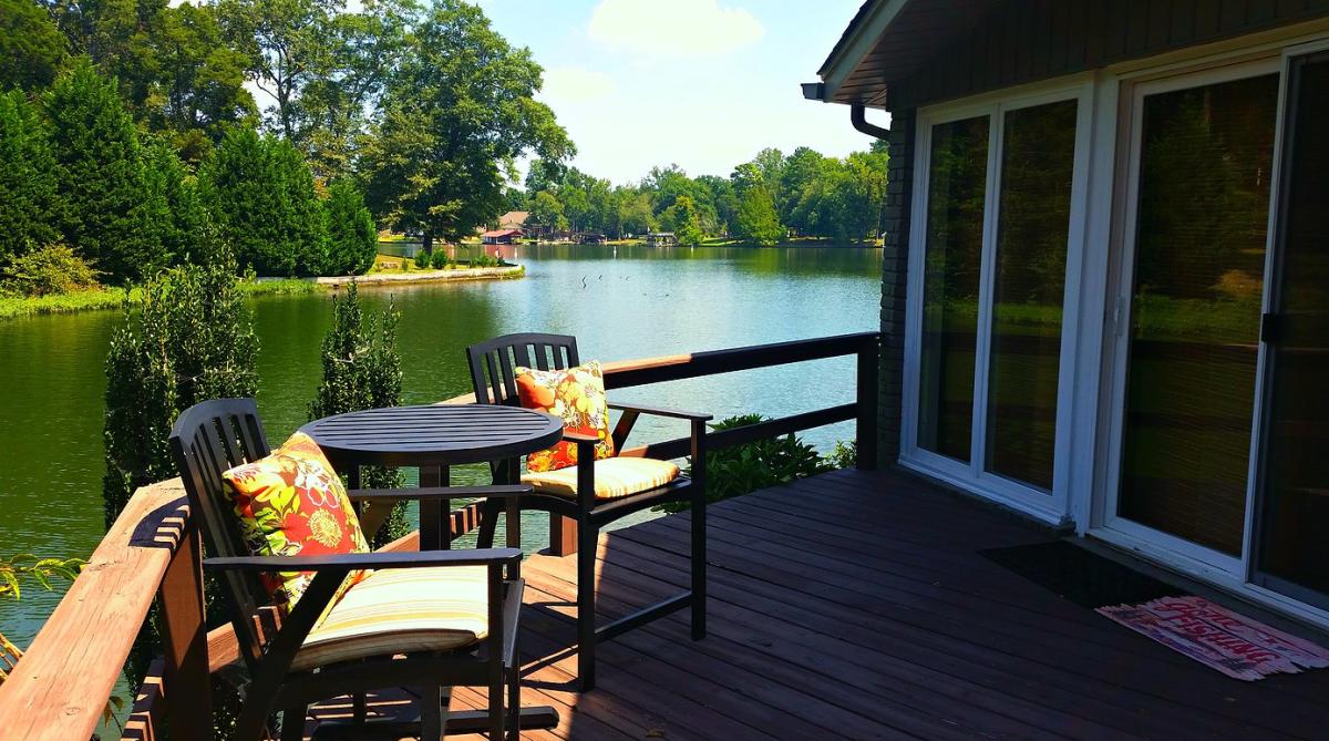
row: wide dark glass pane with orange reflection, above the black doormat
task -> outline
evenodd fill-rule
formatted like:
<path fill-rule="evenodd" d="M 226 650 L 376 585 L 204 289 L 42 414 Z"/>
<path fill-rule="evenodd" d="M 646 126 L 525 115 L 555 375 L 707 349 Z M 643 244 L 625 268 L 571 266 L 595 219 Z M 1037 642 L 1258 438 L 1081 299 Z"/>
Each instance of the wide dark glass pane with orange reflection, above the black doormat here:
<path fill-rule="evenodd" d="M 1118 514 L 1240 555 L 1278 76 L 1143 98 Z"/>

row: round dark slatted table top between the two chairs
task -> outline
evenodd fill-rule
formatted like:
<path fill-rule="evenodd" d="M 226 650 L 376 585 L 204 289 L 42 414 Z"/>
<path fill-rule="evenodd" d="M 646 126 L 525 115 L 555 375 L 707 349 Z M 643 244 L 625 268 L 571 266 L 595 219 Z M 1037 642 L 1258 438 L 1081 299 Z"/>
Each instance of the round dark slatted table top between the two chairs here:
<path fill-rule="evenodd" d="M 300 432 L 340 465 L 451 466 L 549 448 L 562 438 L 563 422 L 516 406 L 443 404 L 334 414 Z"/>

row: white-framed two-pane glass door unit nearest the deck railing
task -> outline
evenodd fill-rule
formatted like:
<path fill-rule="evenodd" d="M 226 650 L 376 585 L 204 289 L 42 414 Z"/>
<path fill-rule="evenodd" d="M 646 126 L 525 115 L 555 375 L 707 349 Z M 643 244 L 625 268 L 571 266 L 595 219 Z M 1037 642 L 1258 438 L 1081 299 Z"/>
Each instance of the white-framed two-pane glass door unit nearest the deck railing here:
<path fill-rule="evenodd" d="M 928 124 L 914 242 L 912 458 L 1057 515 L 1080 113 L 1079 96 L 1066 93 Z"/>

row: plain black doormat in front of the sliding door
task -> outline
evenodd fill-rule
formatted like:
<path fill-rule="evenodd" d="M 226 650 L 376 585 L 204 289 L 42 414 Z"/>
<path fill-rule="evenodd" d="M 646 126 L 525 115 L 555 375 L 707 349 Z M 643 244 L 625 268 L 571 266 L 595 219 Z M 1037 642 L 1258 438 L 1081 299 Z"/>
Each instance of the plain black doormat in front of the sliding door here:
<path fill-rule="evenodd" d="M 1148 602 L 1181 590 L 1067 540 L 978 551 L 1080 607 Z"/>

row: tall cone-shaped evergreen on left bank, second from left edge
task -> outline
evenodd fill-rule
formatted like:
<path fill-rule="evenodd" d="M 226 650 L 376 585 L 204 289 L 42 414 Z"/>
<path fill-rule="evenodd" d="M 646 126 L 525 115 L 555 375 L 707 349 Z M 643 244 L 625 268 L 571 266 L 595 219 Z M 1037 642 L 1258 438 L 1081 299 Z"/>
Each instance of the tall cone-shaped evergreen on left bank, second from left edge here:
<path fill-rule="evenodd" d="M 116 282 L 166 266 L 149 219 L 138 133 L 116 81 L 81 57 L 47 93 L 45 109 L 65 244 Z"/>

